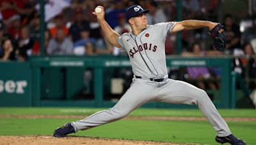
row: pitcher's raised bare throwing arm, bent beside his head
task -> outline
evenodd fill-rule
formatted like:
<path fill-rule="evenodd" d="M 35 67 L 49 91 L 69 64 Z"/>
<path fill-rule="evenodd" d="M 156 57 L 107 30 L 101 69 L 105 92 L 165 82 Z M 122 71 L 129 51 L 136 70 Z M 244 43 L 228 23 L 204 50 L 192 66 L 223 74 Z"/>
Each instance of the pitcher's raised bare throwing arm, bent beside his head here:
<path fill-rule="evenodd" d="M 121 46 L 118 44 L 117 39 L 119 36 L 119 34 L 117 32 L 115 32 L 108 24 L 108 22 L 106 22 L 104 16 L 105 16 L 105 11 L 103 6 L 97 6 L 99 8 L 102 9 L 101 13 L 95 13 L 93 12 L 93 15 L 97 16 L 97 20 L 100 24 L 100 27 L 102 28 L 102 31 L 104 32 L 104 34 L 106 35 L 106 37 L 108 38 L 109 42 L 116 46 L 117 48 L 120 48 Z"/>

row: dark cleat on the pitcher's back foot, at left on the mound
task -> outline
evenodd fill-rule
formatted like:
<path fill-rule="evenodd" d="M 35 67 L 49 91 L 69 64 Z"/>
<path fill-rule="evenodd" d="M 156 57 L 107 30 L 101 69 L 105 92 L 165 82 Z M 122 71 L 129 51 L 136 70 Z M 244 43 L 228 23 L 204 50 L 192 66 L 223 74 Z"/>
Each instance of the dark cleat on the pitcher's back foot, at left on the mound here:
<path fill-rule="evenodd" d="M 71 123 L 65 123 L 63 127 L 58 127 L 53 132 L 54 137 L 65 137 L 67 134 L 75 133 L 74 127 L 72 127 Z"/>

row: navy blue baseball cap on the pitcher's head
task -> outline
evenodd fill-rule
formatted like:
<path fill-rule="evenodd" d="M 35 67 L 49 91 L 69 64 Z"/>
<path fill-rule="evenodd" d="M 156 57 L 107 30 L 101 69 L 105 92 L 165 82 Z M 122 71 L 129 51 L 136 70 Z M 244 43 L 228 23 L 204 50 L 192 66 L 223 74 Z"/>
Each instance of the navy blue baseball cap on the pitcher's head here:
<path fill-rule="evenodd" d="M 126 12 L 125 12 L 125 18 L 128 22 L 128 20 L 132 17 L 136 17 L 138 15 L 140 15 L 141 13 L 148 13 L 149 10 L 144 10 L 140 5 L 133 5 L 130 6 L 129 8 L 127 8 Z"/>

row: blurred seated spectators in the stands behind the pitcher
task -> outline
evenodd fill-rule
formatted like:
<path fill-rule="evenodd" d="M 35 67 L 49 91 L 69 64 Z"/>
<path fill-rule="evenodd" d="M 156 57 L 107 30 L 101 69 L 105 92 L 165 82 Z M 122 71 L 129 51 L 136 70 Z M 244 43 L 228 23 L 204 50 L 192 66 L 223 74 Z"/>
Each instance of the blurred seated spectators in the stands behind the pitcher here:
<path fill-rule="evenodd" d="M 234 70 L 243 74 L 248 67 L 249 75 L 256 77 L 256 29 L 247 21 L 237 21 L 235 16 L 225 13 L 220 18 L 221 0 L 184 0 L 182 20 L 197 19 L 221 22 L 227 35 L 227 47 L 224 53 L 213 51 L 207 29 L 182 32 L 181 55 L 204 57 L 235 55 Z M 36 0 L 0 1 L 0 59 L 26 61 L 31 55 L 40 55 L 40 39 L 44 37 L 45 55 L 125 55 L 125 52 L 113 47 L 106 39 L 92 14 L 97 5 L 105 8 L 106 20 L 118 34 L 130 32 L 125 21 L 125 9 L 140 4 L 150 10 L 147 13 L 148 24 L 177 20 L 177 0 L 166 1 L 129 1 L 129 0 L 45 0 L 44 25 L 40 25 L 40 2 Z M 253 20 L 244 17 L 244 20 Z M 243 22 L 243 23 L 242 23 Z M 241 27 L 241 24 L 243 27 Z M 44 35 L 40 33 L 44 27 Z M 245 29 L 245 28 L 246 29 Z M 247 29 L 248 28 L 248 29 Z M 166 38 L 166 54 L 175 55 L 176 35 Z M 240 58 L 243 57 L 243 58 Z M 188 77 L 211 77 L 211 70 L 188 68 Z M 213 70 L 214 71 L 214 70 Z M 216 71 L 216 70 L 215 70 Z M 220 74 L 220 73 L 219 73 Z M 205 84 L 198 83 L 201 88 Z M 210 88 L 218 85 L 207 84 Z"/>

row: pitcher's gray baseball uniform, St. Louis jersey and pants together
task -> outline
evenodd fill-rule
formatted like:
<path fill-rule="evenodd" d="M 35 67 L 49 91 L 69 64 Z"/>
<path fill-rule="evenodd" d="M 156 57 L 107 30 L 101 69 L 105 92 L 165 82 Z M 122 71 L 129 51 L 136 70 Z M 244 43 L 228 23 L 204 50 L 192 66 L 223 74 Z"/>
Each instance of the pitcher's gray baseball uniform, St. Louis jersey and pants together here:
<path fill-rule="evenodd" d="M 210 121 L 218 136 L 231 134 L 227 123 L 204 90 L 184 81 L 168 78 L 164 42 L 174 25 L 175 22 L 148 25 L 137 36 L 129 32 L 118 38 L 119 45 L 129 55 L 134 72 L 131 87 L 114 107 L 72 122 L 76 132 L 119 120 L 143 104 L 157 101 L 195 104 Z"/>

